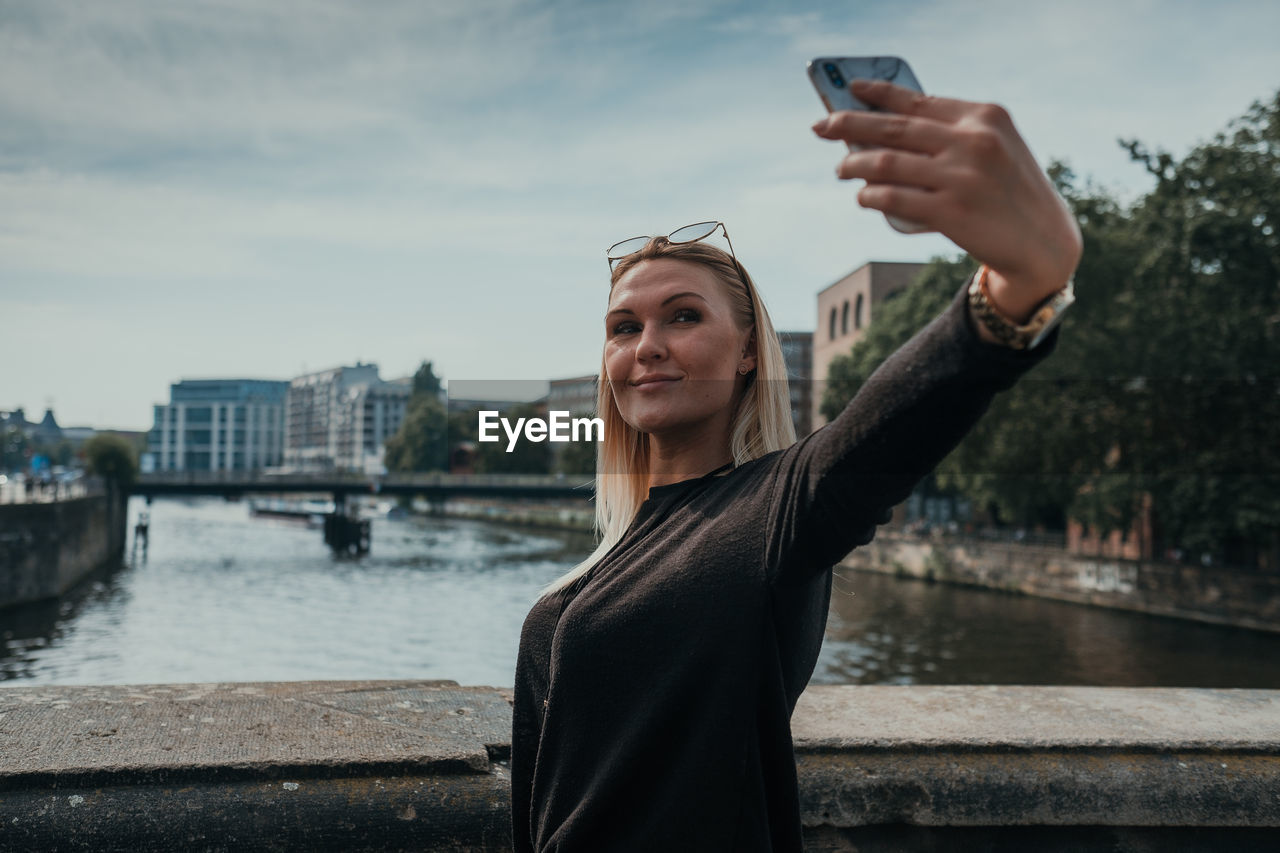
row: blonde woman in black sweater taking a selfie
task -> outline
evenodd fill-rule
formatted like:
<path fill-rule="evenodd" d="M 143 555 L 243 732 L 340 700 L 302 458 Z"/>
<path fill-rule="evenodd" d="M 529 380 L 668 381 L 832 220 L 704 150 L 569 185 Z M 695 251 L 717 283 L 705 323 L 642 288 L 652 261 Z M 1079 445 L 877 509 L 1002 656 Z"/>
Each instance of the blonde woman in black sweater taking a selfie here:
<path fill-rule="evenodd" d="M 518 850 L 801 849 L 790 715 L 831 566 L 1052 348 L 1015 327 L 1048 314 L 1080 236 L 1009 117 L 883 82 L 854 93 L 884 111 L 814 126 L 877 146 L 837 174 L 982 261 L 983 287 L 792 443 L 778 342 L 732 254 L 678 242 L 696 233 L 611 252 L 603 540 L 521 633 Z"/>

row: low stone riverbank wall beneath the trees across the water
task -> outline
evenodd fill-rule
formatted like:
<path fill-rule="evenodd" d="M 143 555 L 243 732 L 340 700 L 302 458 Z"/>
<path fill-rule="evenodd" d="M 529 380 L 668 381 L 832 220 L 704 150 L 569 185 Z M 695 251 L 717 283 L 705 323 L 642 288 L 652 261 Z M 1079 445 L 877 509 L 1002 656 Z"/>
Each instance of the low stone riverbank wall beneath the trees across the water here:
<path fill-rule="evenodd" d="M 882 530 L 845 569 L 1280 631 L 1280 573 L 1076 556 L 1061 548 Z"/>

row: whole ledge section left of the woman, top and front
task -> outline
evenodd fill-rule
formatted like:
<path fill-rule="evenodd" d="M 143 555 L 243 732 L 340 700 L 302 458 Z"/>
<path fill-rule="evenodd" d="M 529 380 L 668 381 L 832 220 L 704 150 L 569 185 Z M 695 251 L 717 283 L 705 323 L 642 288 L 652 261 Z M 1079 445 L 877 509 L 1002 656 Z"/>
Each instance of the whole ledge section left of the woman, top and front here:
<path fill-rule="evenodd" d="M 0 689 L 0 849 L 509 849 L 509 690 Z"/>

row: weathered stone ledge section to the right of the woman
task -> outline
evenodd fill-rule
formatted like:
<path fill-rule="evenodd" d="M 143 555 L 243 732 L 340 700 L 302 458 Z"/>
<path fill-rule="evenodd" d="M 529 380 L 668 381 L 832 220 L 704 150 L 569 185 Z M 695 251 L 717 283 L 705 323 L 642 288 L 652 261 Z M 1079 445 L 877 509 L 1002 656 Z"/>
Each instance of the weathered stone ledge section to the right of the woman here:
<path fill-rule="evenodd" d="M 808 826 L 1280 827 L 1280 692 L 814 688 Z"/>

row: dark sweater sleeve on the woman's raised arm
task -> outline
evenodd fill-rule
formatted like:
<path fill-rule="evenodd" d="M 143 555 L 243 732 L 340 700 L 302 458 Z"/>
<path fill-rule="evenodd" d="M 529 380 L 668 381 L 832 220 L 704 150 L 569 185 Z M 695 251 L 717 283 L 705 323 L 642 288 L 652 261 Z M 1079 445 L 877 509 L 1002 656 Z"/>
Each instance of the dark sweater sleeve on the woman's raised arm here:
<path fill-rule="evenodd" d="M 771 493 L 774 583 L 800 583 L 867 544 L 987 410 L 1042 361 L 978 337 L 965 288 L 872 374 L 829 424 L 783 451 Z"/>

